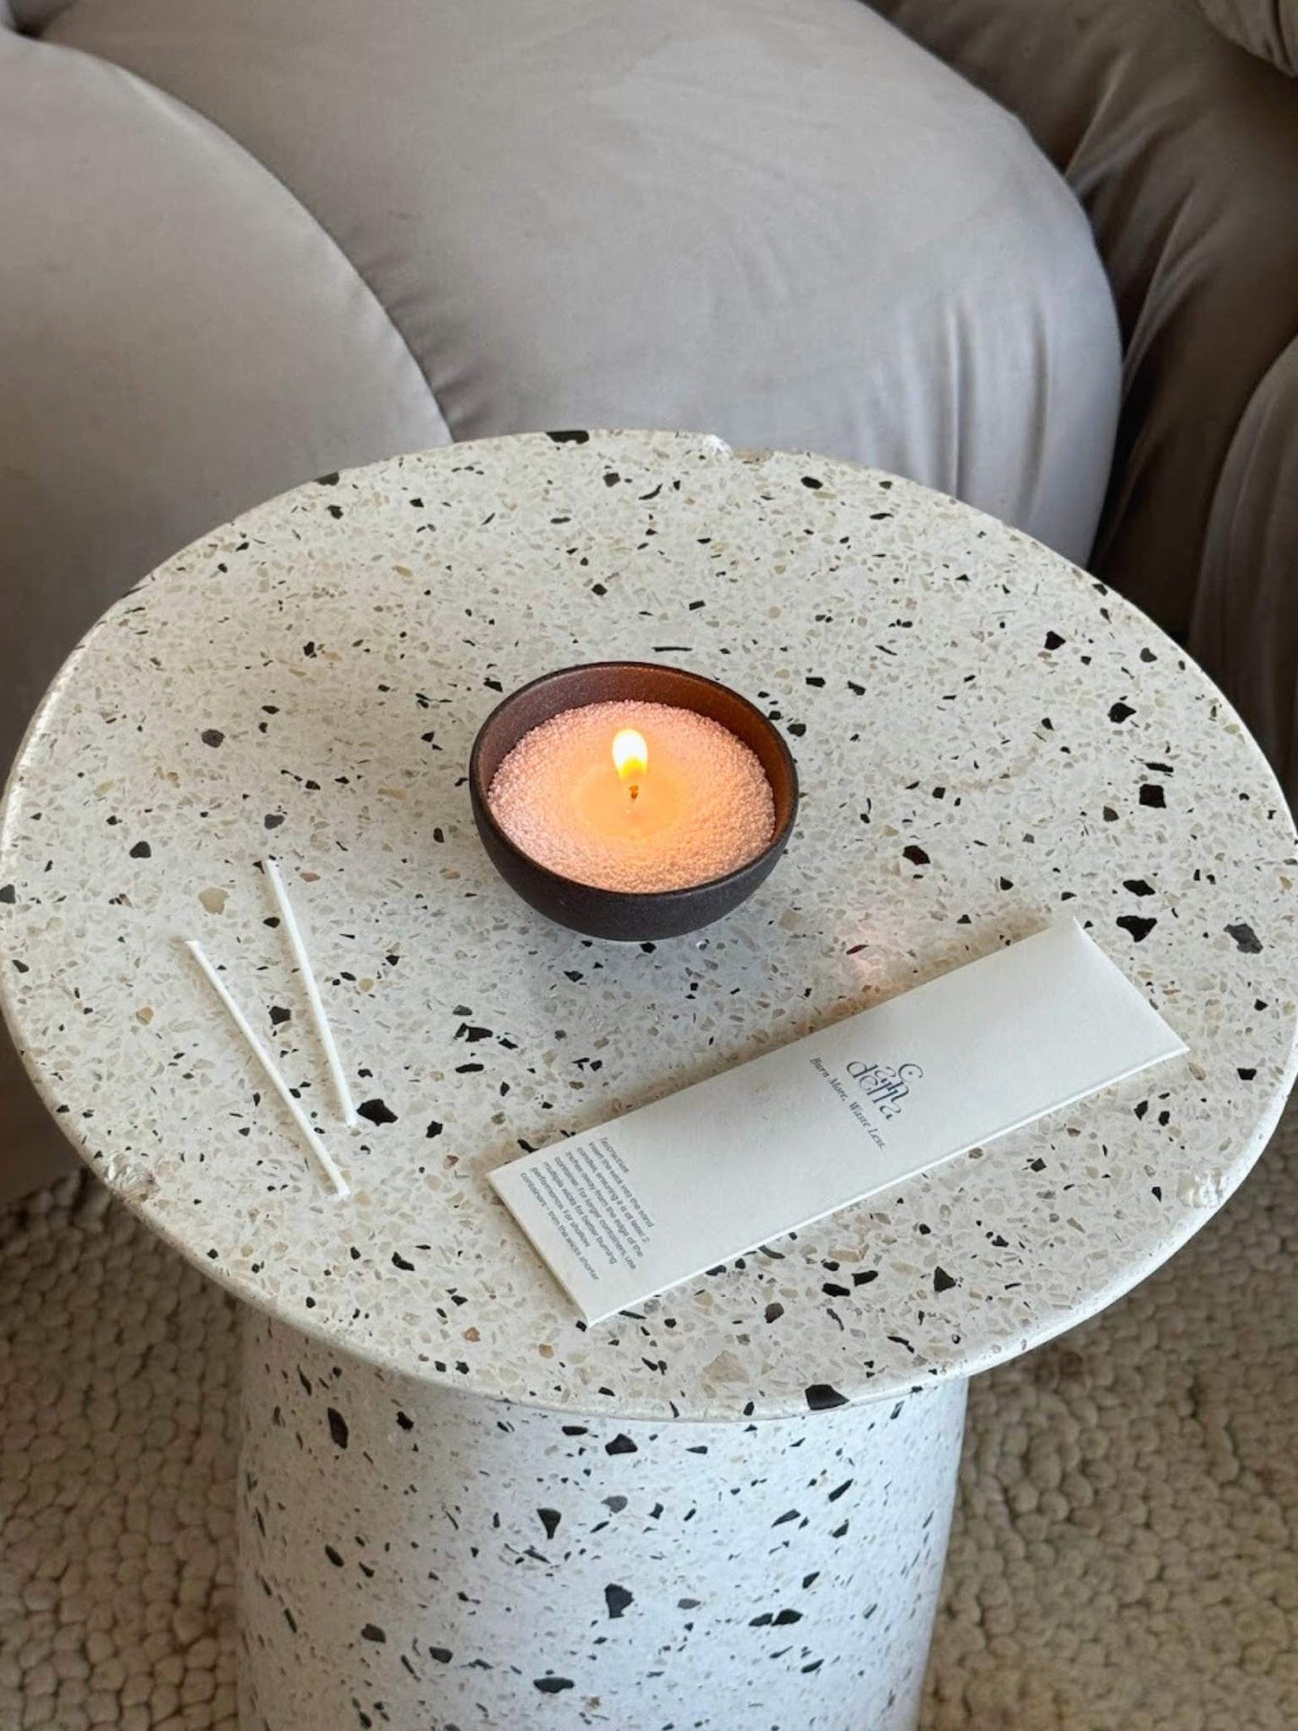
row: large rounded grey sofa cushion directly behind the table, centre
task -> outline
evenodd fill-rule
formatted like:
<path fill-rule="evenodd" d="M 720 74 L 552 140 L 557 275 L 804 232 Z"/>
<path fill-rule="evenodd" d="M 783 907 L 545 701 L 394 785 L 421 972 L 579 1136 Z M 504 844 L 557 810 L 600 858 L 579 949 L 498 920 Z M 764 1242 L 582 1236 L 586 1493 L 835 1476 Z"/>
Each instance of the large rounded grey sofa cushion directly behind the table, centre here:
<path fill-rule="evenodd" d="M 376 289 L 459 438 L 869 459 L 1082 557 L 1116 341 L 1023 130 L 857 0 L 83 0 Z"/>

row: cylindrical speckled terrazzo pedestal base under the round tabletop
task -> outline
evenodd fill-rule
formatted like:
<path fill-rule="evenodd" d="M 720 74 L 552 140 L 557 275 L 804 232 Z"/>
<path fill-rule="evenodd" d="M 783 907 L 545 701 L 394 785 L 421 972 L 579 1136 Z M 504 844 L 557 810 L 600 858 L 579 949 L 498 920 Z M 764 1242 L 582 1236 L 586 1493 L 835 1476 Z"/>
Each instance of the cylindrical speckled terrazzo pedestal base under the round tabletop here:
<path fill-rule="evenodd" d="M 241 1724 L 905 1731 L 964 1397 L 583 1419 L 249 1312 Z"/>

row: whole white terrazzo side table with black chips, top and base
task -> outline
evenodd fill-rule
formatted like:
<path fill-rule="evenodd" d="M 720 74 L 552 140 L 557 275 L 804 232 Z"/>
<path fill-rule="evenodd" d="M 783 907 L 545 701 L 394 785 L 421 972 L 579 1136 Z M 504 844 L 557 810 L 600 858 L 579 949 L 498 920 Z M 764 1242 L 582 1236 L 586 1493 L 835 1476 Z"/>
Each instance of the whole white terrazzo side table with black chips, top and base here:
<path fill-rule="evenodd" d="M 498 694 L 604 656 L 723 679 L 800 760 L 774 878 L 658 947 L 545 924 L 469 815 Z M 256 871 L 272 846 L 355 1132 Z M 588 1329 L 493 1201 L 519 1148 L 1063 911 L 1189 1059 Z M 948 499 L 697 436 L 450 447 L 177 556 L 33 724 L 0 914 L 50 1110 L 247 1303 L 249 1731 L 910 1726 L 966 1380 L 1194 1232 L 1295 1068 L 1293 827 L 1180 651 Z"/>

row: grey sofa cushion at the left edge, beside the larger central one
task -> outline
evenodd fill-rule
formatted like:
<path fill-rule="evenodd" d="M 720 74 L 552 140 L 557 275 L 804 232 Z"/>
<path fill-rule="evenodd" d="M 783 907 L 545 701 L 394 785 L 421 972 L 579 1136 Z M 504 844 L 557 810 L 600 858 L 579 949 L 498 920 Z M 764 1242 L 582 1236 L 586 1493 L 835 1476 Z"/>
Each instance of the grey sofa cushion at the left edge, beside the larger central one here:
<path fill-rule="evenodd" d="M 123 589 L 234 511 L 447 440 L 332 241 L 208 121 L 0 31 L 0 763 Z"/>

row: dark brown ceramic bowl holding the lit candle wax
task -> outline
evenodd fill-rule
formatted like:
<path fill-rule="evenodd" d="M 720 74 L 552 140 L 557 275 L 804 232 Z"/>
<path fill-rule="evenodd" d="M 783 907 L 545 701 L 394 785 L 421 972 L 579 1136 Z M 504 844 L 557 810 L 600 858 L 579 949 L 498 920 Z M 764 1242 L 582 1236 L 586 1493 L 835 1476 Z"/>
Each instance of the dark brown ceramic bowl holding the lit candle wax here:
<path fill-rule="evenodd" d="M 668 703 L 680 710 L 694 710 L 696 715 L 708 715 L 756 753 L 775 796 L 775 829 L 768 845 L 748 866 L 723 878 L 689 885 L 685 890 L 639 893 L 599 890 L 540 866 L 497 824 L 486 793 L 495 772 L 519 739 L 561 710 L 575 710 L 583 703 L 614 703 L 623 698 Z M 492 864 L 537 912 L 592 938 L 644 943 L 651 938 L 678 938 L 685 931 L 697 931 L 699 926 L 708 926 L 739 907 L 756 890 L 793 833 L 798 815 L 798 770 L 789 748 L 767 717 L 755 710 L 748 698 L 718 685 L 715 679 L 685 673 L 675 666 L 656 666 L 652 661 L 592 661 L 588 666 L 566 666 L 557 673 L 543 673 L 492 710 L 472 743 L 469 798 L 478 834 Z"/>

